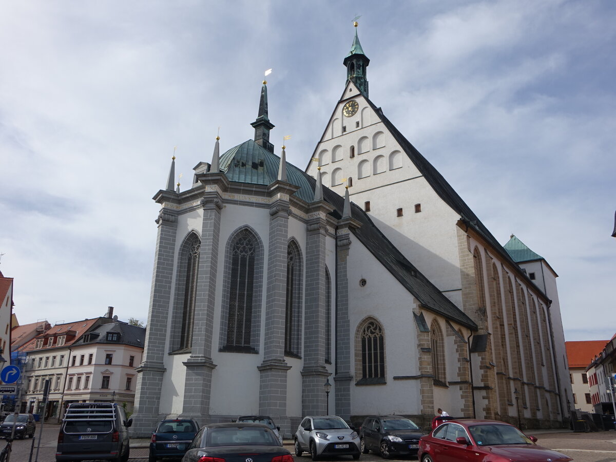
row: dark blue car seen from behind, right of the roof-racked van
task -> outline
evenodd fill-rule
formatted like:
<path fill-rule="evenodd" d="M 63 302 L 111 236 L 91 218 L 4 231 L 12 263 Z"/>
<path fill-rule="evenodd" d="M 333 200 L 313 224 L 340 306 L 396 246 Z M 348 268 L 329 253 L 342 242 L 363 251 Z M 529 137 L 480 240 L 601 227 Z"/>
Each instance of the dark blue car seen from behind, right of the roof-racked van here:
<path fill-rule="evenodd" d="M 195 438 L 199 424 L 193 419 L 163 419 L 152 432 L 149 462 L 182 457 Z"/>

